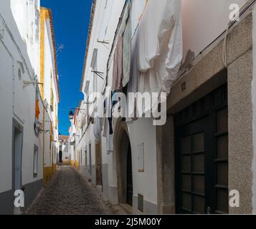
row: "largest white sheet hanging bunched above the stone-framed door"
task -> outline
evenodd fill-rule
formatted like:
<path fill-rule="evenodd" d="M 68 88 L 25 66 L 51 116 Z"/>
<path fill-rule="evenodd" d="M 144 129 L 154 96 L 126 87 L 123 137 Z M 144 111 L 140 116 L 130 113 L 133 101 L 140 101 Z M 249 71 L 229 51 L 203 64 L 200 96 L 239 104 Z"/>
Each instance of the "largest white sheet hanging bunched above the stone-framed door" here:
<path fill-rule="evenodd" d="M 182 61 L 181 0 L 148 0 L 138 28 L 139 92 L 169 92 Z"/>

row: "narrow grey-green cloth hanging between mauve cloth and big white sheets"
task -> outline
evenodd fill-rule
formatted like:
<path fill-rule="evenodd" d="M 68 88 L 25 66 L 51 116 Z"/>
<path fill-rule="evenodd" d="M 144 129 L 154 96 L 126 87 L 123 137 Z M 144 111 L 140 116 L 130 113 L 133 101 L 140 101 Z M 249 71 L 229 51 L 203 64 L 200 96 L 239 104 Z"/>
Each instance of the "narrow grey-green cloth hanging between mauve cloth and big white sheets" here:
<path fill-rule="evenodd" d="M 130 80 L 131 70 L 131 19 L 128 19 L 123 33 L 123 87 Z"/>

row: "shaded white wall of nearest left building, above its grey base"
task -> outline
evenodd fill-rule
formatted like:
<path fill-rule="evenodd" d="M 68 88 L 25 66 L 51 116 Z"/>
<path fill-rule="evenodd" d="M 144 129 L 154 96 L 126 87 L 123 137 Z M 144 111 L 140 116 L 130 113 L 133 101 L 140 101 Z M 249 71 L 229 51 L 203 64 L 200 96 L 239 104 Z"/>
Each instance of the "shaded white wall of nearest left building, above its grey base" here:
<path fill-rule="evenodd" d="M 27 49 L 31 44 L 27 44 L 27 41 L 23 39 L 24 31 L 27 31 L 27 29 L 17 26 L 17 21 L 14 20 L 17 20 L 15 16 L 17 12 L 11 9 L 12 3 L 12 1 L 3 0 L 0 7 L 0 24 L 3 31 L 0 36 L 0 106 L 2 107 L 0 115 L 2 130 L 0 133 L 0 192 L 11 190 L 13 117 L 24 128 L 22 185 L 42 179 L 42 155 L 39 155 L 38 175 L 33 177 L 34 145 L 40 148 L 40 137 L 36 137 L 34 134 L 35 87 L 30 85 L 23 88 L 23 81 L 31 81 L 34 76 L 33 61 L 29 57 Z M 19 7 L 20 14 L 27 6 L 23 4 Z M 33 45 L 32 43 L 32 47 Z M 19 69 L 22 70 L 21 79 L 18 76 Z M 14 96 L 13 92 L 15 92 Z M 42 108 L 42 104 L 40 106 Z"/>

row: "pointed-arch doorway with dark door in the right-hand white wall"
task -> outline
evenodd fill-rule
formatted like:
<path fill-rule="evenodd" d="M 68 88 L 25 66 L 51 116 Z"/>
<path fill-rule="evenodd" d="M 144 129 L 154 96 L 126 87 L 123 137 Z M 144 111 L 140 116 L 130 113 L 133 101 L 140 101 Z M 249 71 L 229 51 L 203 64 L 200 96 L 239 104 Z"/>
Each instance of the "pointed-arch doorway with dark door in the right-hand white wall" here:
<path fill-rule="evenodd" d="M 119 203 L 133 205 L 133 165 L 131 142 L 125 122 L 119 123 L 115 132 L 115 152 L 118 177 Z"/>

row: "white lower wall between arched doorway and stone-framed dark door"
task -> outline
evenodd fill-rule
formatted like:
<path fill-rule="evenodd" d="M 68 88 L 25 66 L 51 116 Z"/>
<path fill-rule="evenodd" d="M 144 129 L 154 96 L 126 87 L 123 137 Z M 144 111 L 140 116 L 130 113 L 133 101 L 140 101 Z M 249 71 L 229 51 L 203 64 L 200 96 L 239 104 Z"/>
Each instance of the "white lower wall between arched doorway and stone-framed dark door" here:
<path fill-rule="evenodd" d="M 133 195 L 157 204 L 156 126 L 153 119 L 143 118 L 128 125 L 133 161 Z M 138 172 L 138 145 L 144 145 L 144 172 Z"/>

